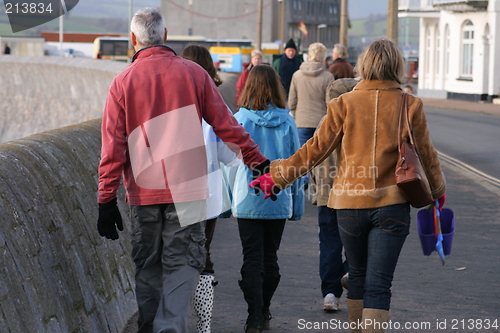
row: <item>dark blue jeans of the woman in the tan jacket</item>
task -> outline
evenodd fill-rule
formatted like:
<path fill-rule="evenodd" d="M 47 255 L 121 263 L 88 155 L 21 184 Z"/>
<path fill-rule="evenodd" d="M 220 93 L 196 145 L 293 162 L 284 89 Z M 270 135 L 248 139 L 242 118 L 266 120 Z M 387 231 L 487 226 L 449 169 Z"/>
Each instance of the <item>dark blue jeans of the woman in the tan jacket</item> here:
<path fill-rule="evenodd" d="M 339 209 L 340 238 L 349 260 L 348 298 L 389 310 L 399 254 L 410 233 L 410 205 Z"/>

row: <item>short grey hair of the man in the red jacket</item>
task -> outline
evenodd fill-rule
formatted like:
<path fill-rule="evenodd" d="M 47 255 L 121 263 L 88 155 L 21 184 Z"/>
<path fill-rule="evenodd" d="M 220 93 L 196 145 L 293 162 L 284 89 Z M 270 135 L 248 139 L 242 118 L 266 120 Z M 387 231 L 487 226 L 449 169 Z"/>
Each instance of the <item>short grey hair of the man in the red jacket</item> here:
<path fill-rule="evenodd" d="M 163 44 L 165 28 L 165 19 L 156 8 L 139 9 L 130 22 L 130 31 L 142 46 Z"/>

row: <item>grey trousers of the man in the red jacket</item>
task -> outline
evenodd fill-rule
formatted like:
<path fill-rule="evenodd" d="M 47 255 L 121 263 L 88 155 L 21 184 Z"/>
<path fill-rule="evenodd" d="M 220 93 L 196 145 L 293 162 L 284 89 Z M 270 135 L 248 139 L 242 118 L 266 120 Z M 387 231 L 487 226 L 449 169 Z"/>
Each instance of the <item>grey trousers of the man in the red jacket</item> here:
<path fill-rule="evenodd" d="M 174 204 L 132 206 L 131 220 L 138 332 L 187 333 L 205 266 L 204 222 L 181 227 Z"/>

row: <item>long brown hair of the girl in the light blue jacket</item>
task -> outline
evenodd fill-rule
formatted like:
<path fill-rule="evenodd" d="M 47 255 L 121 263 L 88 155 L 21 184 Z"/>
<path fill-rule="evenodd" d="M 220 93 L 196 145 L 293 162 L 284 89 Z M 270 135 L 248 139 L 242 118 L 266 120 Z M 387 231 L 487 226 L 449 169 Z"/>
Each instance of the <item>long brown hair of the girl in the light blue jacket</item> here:
<path fill-rule="evenodd" d="M 285 89 L 278 73 L 268 65 L 252 68 L 237 104 L 249 110 L 266 110 L 269 105 L 284 109 Z"/>

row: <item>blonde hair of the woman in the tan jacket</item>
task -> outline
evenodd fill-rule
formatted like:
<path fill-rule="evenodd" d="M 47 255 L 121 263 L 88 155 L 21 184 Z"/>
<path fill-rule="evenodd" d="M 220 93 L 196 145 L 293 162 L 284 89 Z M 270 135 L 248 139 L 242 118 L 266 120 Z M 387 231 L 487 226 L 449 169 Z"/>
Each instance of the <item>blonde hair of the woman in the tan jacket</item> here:
<path fill-rule="evenodd" d="M 381 38 L 372 42 L 358 58 L 356 72 L 363 80 L 405 80 L 405 64 L 396 43 Z"/>

